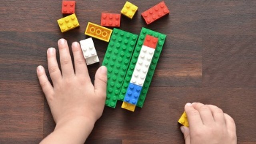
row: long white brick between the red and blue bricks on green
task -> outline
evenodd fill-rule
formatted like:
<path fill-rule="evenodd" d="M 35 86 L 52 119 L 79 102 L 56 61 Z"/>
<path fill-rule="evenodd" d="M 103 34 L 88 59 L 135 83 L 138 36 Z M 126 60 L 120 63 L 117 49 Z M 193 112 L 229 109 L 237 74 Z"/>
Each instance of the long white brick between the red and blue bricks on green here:
<path fill-rule="evenodd" d="M 131 83 L 143 86 L 154 52 L 154 48 L 142 46 L 132 73 Z"/>

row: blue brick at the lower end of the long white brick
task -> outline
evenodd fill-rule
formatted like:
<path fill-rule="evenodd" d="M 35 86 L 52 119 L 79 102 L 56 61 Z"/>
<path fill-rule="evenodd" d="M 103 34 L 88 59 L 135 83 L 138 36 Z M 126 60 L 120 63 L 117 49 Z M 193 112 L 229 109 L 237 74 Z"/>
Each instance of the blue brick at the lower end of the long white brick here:
<path fill-rule="evenodd" d="M 136 103 L 138 102 L 138 98 L 140 96 L 141 89 L 142 86 L 130 83 L 124 96 L 124 102 L 136 105 Z"/>

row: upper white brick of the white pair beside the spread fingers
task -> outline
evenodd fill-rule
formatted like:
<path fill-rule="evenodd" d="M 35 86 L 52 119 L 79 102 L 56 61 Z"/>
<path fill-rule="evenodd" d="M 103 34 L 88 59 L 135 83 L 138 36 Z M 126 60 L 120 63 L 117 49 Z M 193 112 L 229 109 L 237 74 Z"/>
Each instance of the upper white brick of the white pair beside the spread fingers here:
<path fill-rule="evenodd" d="M 90 58 L 92 56 L 97 56 L 92 38 L 87 38 L 85 40 L 81 40 L 80 45 L 81 45 L 85 59 Z"/>

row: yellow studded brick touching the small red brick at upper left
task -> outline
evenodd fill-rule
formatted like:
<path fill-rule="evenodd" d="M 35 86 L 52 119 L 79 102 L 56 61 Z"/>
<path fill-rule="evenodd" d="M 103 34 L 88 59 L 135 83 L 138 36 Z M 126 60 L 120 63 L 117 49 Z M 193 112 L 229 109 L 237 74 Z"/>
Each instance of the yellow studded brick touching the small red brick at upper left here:
<path fill-rule="evenodd" d="M 76 14 L 71 14 L 64 18 L 61 18 L 57 20 L 57 22 L 60 26 L 61 32 L 66 32 L 68 30 L 71 30 L 79 26 L 78 20 L 76 18 Z"/>

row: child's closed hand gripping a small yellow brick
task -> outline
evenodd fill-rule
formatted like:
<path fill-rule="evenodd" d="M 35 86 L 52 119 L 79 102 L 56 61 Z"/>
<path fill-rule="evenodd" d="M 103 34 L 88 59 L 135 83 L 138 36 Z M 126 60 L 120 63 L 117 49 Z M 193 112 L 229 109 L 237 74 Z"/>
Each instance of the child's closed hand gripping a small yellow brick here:
<path fill-rule="evenodd" d="M 233 118 L 217 106 L 186 104 L 189 128 L 181 126 L 186 144 L 236 144 Z"/>

